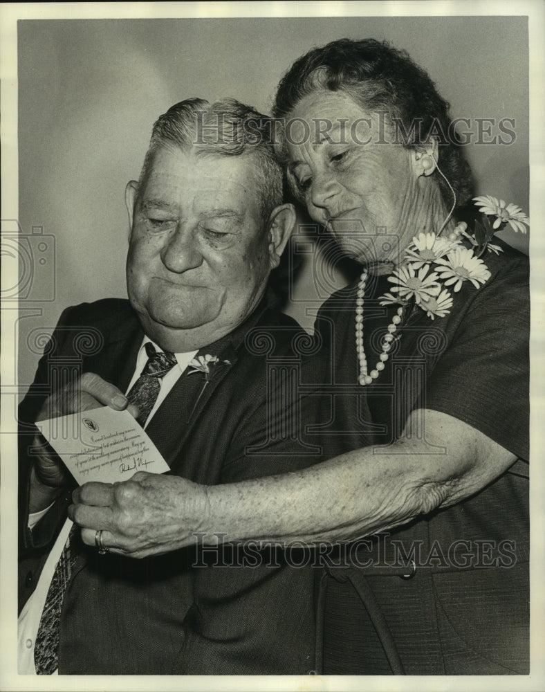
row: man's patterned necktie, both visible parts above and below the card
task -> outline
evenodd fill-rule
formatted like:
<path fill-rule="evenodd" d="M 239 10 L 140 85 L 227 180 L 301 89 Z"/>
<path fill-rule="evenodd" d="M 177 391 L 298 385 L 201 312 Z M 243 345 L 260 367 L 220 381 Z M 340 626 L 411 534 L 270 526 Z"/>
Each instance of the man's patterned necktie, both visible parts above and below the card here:
<path fill-rule="evenodd" d="M 172 353 L 158 353 L 151 343 L 145 345 L 148 361 L 142 370 L 142 374 L 127 399 L 138 406 L 140 414 L 138 423 L 143 427 L 147 421 L 151 409 L 157 400 L 161 388 L 162 379 L 169 370 L 176 365 L 176 356 Z M 34 649 L 34 663 L 38 675 L 51 675 L 58 668 L 59 661 L 59 627 L 62 603 L 68 582 L 70 581 L 77 550 L 75 549 L 75 531 L 71 528 L 64 549 L 55 567 L 55 574 L 51 580 L 44 611 L 41 614 L 36 644 Z"/>

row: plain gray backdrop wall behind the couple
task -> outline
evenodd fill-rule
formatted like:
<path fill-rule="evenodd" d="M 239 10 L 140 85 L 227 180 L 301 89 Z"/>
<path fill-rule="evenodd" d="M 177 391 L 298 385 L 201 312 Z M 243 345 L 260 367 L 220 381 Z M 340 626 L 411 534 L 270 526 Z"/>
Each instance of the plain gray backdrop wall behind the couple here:
<path fill-rule="evenodd" d="M 232 95 L 268 112 L 293 60 L 340 37 L 405 48 L 474 133 L 475 118 L 513 118 L 514 143 L 467 154 L 478 194 L 528 212 L 526 17 L 19 21 L 19 222 L 48 238 L 36 265 L 48 300 L 30 295 L 20 313 L 21 385 L 37 363 L 37 328 L 52 329 L 68 305 L 126 295 L 124 186 L 138 177 L 156 117 L 192 95 Z M 524 237 L 512 244 L 527 247 Z M 306 255 L 286 307 L 305 327 L 324 297 L 315 270 Z M 333 289 L 345 275 L 328 281 Z"/>

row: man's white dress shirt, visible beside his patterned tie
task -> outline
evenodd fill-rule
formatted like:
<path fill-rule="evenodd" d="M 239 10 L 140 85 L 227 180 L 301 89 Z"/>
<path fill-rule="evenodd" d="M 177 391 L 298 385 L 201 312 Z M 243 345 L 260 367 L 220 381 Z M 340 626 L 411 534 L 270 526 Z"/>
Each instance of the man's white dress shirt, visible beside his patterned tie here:
<path fill-rule="evenodd" d="M 136 359 L 136 367 L 134 369 L 134 374 L 131 378 L 131 381 L 129 382 L 129 386 L 127 387 L 127 393 L 130 392 L 133 384 L 136 382 L 136 380 L 138 380 L 138 378 L 140 377 L 140 373 L 142 372 L 147 363 L 147 353 L 145 345 L 149 341 L 150 340 L 147 337 L 145 337 L 142 340 L 142 345 L 140 346 L 140 351 L 138 352 L 138 358 Z M 154 345 L 156 351 L 161 350 L 152 341 L 151 343 Z M 159 394 L 155 402 L 154 408 L 152 408 L 149 412 L 149 416 L 147 417 L 147 421 L 144 428 L 151 420 L 151 418 L 154 416 L 156 410 L 164 401 L 169 391 L 172 390 L 172 388 L 178 381 L 178 378 L 181 376 L 187 365 L 189 365 L 191 359 L 194 358 L 195 354 L 196 351 L 192 351 L 190 353 L 174 354 L 176 356 L 177 366 L 173 367 L 172 370 L 169 370 L 169 372 L 167 372 L 167 374 L 165 374 L 165 376 L 162 379 L 160 379 L 161 386 Z M 50 507 L 46 507 L 46 509 L 40 512 L 31 514 L 28 518 L 28 527 L 30 529 L 35 527 L 35 525 L 37 525 L 42 516 L 46 514 L 48 509 L 50 509 Z M 44 605 L 46 602 L 46 597 L 49 591 L 51 580 L 53 579 L 53 574 L 55 574 L 55 567 L 57 567 L 57 562 L 59 561 L 59 558 L 64 549 L 64 544 L 66 543 L 66 539 L 68 538 L 68 534 L 70 533 L 72 524 L 73 522 L 71 522 L 70 519 L 66 519 L 66 522 L 64 522 L 64 526 L 62 527 L 59 536 L 57 537 L 57 540 L 55 541 L 55 544 L 53 545 L 53 548 L 51 549 L 48 555 L 48 558 L 44 565 L 44 569 L 41 571 L 36 588 L 32 596 L 30 596 L 28 601 L 25 603 L 24 608 L 23 610 L 21 610 L 21 614 L 19 615 L 17 627 L 19 675 L 36 675 L 36 668 L 34 664 L 34 647 L 39 628 L 39 621 L 41 619 L 41 613 L 44 610 Z M 57 675 L 57 671 L 55 671 L 53 675 Z"/>

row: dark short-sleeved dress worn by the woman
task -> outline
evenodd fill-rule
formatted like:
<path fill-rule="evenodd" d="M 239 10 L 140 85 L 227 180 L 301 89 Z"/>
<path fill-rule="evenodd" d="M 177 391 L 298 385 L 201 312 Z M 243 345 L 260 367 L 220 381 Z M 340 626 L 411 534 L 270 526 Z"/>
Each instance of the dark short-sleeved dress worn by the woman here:
<path fill-rule="evenodd" d="M 372 547 L 354 545 L 351 567 L 324 570 L 323 673 L 528 673 L 528 258 L 504 248 L 483 256 L 490 280 L 479 289 L 464 282 L 449 315 L 431 320 L 413 309 L 387 367 L 366 387 L 356 384 L 357 286 L 320 309 L 317 334 L 331 348 L 322 417 L 330 455 L 387 445 L 412 410 L 428 408 L 480 430 L 518 459 L 477 495 L 375 537 Z M 376 300 L 390 290 L 385 277 L 367 284 L 369 370 L 398 307 Z M 382 450 L 375 451 L 380 464 Z M 404 567 L 412 560 L 416 570 Z M 403 572 L 414 574 L 404 579 Z"/>

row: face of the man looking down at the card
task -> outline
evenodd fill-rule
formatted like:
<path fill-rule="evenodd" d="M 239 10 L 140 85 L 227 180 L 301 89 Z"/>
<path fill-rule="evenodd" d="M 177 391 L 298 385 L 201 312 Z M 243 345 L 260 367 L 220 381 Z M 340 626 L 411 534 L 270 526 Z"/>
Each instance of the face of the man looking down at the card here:
<path fill-rule="evenodd" d="M 127 289 L 161 347 L 180 352 L 212 343 L 263 295 L 275 262 L 254 180 L 251 157 L 161 147 L 132 214 L 129 183 Z"/>

